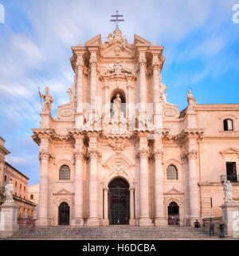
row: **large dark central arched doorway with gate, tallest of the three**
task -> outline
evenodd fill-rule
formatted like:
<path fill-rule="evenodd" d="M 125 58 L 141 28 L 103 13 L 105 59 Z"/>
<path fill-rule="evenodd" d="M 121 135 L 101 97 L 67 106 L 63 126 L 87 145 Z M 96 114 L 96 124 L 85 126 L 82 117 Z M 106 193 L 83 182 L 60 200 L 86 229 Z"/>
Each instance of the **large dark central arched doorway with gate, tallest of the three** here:
<path fill-rule="evenodd" d="M 129 185 L 121 178 L 108 184 L 108 219 L 110 225 L 129 224 Z"/>

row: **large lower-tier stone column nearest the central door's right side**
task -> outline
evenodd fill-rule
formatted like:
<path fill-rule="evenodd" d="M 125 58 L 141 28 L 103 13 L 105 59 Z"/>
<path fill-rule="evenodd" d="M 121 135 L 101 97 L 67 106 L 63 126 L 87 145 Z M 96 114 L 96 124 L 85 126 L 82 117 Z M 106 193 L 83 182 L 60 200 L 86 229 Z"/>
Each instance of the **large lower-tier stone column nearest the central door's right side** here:
<path fill-rule="evenodd" d="M 140 195 L 140 219 L 139 226 L 151 226 L 149 218 L 149 188 L 147 170 L 147 148 L 139 148 L 140 175 L 139 175 L 139 195 Z"/>

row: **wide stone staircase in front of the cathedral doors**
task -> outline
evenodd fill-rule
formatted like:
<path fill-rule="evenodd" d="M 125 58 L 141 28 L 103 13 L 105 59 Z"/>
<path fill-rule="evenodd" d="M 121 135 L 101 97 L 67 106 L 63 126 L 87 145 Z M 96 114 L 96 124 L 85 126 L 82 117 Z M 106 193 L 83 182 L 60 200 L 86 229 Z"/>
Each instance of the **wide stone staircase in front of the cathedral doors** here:
<path fill-rule="evenodd" d="M 33 227 L 20 229 L 8 239 L 211 239 L 218 238 L 218 230 L 215 236 L 210 237 L 209 229 L 203 227 L 201 230 L 194 230 L 193 227 L 169 226 L 169 227 L 139 227 L 139 226 L 104 226 L 104 227 Z"/>

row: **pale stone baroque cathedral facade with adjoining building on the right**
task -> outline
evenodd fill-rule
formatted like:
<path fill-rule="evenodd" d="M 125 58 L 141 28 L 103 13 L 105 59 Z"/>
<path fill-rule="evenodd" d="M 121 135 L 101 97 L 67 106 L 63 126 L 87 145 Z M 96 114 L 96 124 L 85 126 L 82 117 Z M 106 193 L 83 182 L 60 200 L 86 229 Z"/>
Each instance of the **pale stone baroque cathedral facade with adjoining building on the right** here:
<path fill-rule="evenodd" d="M 167 102 L 163 46 L 119 29 L 72 46 L 69 103 L 44 100 L 36 226 L 190 225 L 239 200 L 239 104 Z"/>

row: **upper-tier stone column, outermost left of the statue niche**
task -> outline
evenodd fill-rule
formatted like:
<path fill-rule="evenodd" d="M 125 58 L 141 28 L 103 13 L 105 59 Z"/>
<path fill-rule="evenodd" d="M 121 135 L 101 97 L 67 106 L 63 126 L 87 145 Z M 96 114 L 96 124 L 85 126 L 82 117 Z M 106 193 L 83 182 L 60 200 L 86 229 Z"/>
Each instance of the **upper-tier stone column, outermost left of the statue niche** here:
<path fill-rule="evenodd" d="M 83 125 L 83 66 L 82 56 L 76 60 L 76 128 Z"/>

